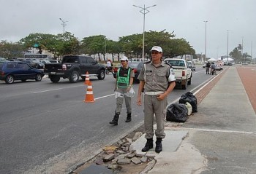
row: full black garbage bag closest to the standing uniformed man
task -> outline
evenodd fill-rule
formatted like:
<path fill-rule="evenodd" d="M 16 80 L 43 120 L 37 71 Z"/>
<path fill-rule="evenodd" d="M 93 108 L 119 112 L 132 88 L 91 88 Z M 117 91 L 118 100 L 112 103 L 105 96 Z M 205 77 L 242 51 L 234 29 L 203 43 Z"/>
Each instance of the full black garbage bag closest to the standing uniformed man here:
<path fill-rule="evenodd" d="M 166 120 L 170 122 L 186 122 L 189 118 L 185 104 L 173 103 L 167 107 Z"/>

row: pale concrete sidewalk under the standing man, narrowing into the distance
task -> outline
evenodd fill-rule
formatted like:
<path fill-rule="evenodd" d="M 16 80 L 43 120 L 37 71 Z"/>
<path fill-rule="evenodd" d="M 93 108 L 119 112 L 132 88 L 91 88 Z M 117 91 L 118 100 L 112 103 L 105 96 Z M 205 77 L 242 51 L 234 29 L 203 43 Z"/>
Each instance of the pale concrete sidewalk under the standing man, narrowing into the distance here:
<path fill-rule="evenodd" d="M 148 173 L 256 173 L 255 111 L 236 67 L 225 71 L 187 122 L 166 123 L 161 153 L 141 152 L 144 135 L 132 143 L 155 156 Z"/>

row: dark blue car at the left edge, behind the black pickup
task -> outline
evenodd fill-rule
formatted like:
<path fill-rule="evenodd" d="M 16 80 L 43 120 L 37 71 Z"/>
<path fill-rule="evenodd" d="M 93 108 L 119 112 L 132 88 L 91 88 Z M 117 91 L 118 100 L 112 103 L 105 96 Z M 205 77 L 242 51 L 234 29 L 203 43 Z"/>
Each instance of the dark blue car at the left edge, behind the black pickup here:
<path fill-rule="evenodd" d="M 0 63 L 0 80 L 12 84 L 15 80 L 25 82 L 27 79 L 34 79 L 37 82 L 42 80 L 44 71 L 33 68 L 29 64 L 20 61 Z"/>

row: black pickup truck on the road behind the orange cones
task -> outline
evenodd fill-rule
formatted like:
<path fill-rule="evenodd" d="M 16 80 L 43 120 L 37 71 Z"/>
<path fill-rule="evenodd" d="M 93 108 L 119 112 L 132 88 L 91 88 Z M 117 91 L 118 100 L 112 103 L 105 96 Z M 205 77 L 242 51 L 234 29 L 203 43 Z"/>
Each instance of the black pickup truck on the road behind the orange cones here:
<path fill-rule="evenodd" d="M 69 82 L 75 83 L 86 78 L 86 72 L 89 76 L 97 76 L 98 79 L 105 79 L 106 67 L 91 58 L 83 55 L 64 56 L 61 63 L 45 64 L 45 73 L 48 73 L 50 81 L 59 82 L 60 78 L 69 79 Z"/>

